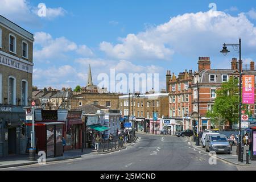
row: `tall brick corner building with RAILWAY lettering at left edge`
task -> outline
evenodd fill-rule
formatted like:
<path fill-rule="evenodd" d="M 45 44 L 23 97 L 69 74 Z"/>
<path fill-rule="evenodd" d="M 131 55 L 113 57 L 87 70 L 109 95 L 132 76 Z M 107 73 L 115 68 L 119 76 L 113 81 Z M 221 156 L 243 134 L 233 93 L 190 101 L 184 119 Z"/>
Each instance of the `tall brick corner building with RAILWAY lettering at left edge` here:
<path fill-rule="evenodd" d="M 24 154 L 32 100 L 34 35 L 0 15 L 0 156 Z"/>

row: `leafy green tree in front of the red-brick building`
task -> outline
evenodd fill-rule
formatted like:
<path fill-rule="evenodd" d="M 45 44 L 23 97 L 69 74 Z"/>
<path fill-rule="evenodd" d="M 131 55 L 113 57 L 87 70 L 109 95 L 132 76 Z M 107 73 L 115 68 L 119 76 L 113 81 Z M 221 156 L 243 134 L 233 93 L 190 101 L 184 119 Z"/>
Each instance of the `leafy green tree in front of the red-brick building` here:
<path fill-rule="evenodd" d="M 212 111 L 208 111 L 207 117 L 211 118 L 214 125 L 226 125 L 232 129 L 233 124 L 238 122 L 239 111 L 239 88 L 238 80 L 233 77 L 224 82 L 220 89 L 216 90 L 217 97 Z"/>

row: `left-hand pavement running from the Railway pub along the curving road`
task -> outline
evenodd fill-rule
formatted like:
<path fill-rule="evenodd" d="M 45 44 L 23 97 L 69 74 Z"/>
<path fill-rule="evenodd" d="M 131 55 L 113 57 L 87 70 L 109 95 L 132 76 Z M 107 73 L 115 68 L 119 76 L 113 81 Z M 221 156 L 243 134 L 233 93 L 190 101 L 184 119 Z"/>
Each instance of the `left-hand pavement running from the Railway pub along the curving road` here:
<path fill-rule="evenodd" d="M 137 137 L 138 138 L 138 137 Z M 136 139 L 135 139 L 136 141 Z M 134 143 L 125 143 L 122 148 L 117 148 L 116 150 L 109 150 L 106 152 L 97 152 L 94 148 L 84 148 L 84 151 L 81 152 L 81 149 L 78 150 L 68 150 L 65 151 L 63 156 L 59 156 L 56 158 L 48 158 L 46 159 L 46 162 L 54 162 L 59 160 L 68 160 L 68 159 L 75 159 L 75 158 L 83 158 L 85 156 L 89 155 L 97 155 L 97 154 L 107 154 L 110 152 L 123 150 L 127 146 L 133 145 Z M 27 166 L 31 164 L 37 164 L 38 163 L 39 156 L 36 155 L 35 161 L 28 160 L 28 154 L 24 155 L 13 155 L 13 156 L 7 156 L 5 158 L 0 158 L 0 169 L 1 168 L 9 168 L 9 167 L 18 167 L 18 166 Z"/>

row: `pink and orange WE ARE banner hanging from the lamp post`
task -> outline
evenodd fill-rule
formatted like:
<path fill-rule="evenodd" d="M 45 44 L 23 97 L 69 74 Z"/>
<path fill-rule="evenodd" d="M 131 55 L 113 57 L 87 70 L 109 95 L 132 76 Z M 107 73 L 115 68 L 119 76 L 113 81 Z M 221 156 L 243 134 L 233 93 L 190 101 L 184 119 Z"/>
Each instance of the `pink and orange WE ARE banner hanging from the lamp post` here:
<path fill-rule="evenodd" d="M 243 75 L 243 104 L 254 104 L 254 75 Z"/>

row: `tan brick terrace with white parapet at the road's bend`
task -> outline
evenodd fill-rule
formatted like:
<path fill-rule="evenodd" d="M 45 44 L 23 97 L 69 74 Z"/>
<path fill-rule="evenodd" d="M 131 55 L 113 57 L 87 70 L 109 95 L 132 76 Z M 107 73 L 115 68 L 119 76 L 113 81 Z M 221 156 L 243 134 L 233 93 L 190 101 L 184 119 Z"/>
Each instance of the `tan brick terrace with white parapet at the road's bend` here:
<path fill-rule="evenodd" d="M 129 105 L 130 100 L 130 105 Z M 130 94 L 119 97 L 119 110 L 125 120 L 128 115 L 135 117 L 135 128 L 138 131 L 146 131 L 155 134 L 160 133 L 160 118 L 168 116 L 168 93 Z M 130 106 L 130 113 L 129 113 Z M 156 119 L 153 126 L 153 111 Z"/>

